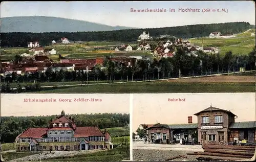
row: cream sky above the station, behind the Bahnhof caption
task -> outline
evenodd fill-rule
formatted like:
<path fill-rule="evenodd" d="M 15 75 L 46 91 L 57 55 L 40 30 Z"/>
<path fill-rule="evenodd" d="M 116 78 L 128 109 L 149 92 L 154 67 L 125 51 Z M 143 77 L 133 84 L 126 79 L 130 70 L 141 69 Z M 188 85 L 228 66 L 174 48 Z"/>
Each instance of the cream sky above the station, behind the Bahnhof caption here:
<path fill-rule="evenodd" d="M 168 98 L 185 100 L 168 102 Z M 236 122 L 256 121 L 255 93 L 136 94 L 133 95 L 132 131 L 136 132 L 140 124 L 185 124 L 189 116 L 197 123 L 194 114 L 210 104 L 236 114 Z"/>

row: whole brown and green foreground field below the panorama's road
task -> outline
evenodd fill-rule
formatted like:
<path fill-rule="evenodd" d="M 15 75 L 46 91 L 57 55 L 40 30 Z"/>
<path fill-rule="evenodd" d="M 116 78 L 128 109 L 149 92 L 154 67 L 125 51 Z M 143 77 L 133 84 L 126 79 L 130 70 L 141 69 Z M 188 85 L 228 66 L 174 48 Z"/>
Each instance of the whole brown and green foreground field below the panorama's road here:
<path fill-rule="evenodd" d="M 173 79 L 152 82 L 119 83 L 65 87 L 36 91 L 40 94 L 72 93 L 204 93 L 204 92 L 255 92 L 254 76 L 215 76 Z"/>

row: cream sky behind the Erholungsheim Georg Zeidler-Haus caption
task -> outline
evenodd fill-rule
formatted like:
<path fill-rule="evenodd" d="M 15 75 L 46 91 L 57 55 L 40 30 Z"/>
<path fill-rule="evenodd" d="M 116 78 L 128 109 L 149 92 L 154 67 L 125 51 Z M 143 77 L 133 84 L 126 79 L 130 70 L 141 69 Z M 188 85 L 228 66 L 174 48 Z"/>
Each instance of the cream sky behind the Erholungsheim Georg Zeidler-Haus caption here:
<path fill-rule="evenodd" d="M 98 102 L 74 102 L 74 99 L 101 99 Z M 56 99 L 57 102 L 24 102 L 24 99 Z M 72 102 L 59 102 L 71 99 Z M 129 95 L 106 94 L 1 94 L 1 116 L 57 115 L 77 113 L 130 113 Z"/>

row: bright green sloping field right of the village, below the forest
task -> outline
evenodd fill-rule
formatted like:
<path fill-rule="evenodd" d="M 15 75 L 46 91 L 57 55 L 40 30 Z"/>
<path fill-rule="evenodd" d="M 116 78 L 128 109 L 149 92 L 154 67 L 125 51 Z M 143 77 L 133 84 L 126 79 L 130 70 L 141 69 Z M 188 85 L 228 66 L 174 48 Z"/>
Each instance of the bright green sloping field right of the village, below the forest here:
<path fill-rule="evenodd" d="M 193 44 L 201 47 L 202 41 L 204 47 L 217 47 L 220 54 L 225 55 L 226 52 L 232 51 L 234 55 L 247 55 L 255 46 L 255 36 L 251 36 L 255 29 L 248 30 L 244 33 L 237 34 L 234 38 L 196 38 L 188 39 Z"/>

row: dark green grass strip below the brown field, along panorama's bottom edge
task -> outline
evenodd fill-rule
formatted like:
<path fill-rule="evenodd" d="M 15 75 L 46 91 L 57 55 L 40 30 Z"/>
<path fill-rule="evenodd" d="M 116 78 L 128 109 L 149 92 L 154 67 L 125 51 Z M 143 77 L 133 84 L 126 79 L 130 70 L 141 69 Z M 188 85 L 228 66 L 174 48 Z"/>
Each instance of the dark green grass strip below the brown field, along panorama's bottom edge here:
<path fill-rule="evenodd" d="M 207 92 L 255 92 L 254 82 L 175 83 L 165 81 L 105 84 L 41 90 L 40 94 L 88 94 L 88 93 L 207 93 Z"/>

